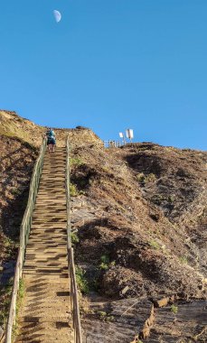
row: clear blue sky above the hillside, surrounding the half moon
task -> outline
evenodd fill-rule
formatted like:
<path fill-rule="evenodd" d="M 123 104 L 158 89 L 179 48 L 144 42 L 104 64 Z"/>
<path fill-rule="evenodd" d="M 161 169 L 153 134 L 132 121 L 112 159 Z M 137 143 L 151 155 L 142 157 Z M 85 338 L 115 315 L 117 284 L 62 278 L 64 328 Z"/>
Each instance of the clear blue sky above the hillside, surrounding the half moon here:
<path fill-rule="evenodd" d="M 3 0 L 0 108 L 207 150 L 207 0 Z M 61 23 L 52 11 L 60 10 Z"/>

